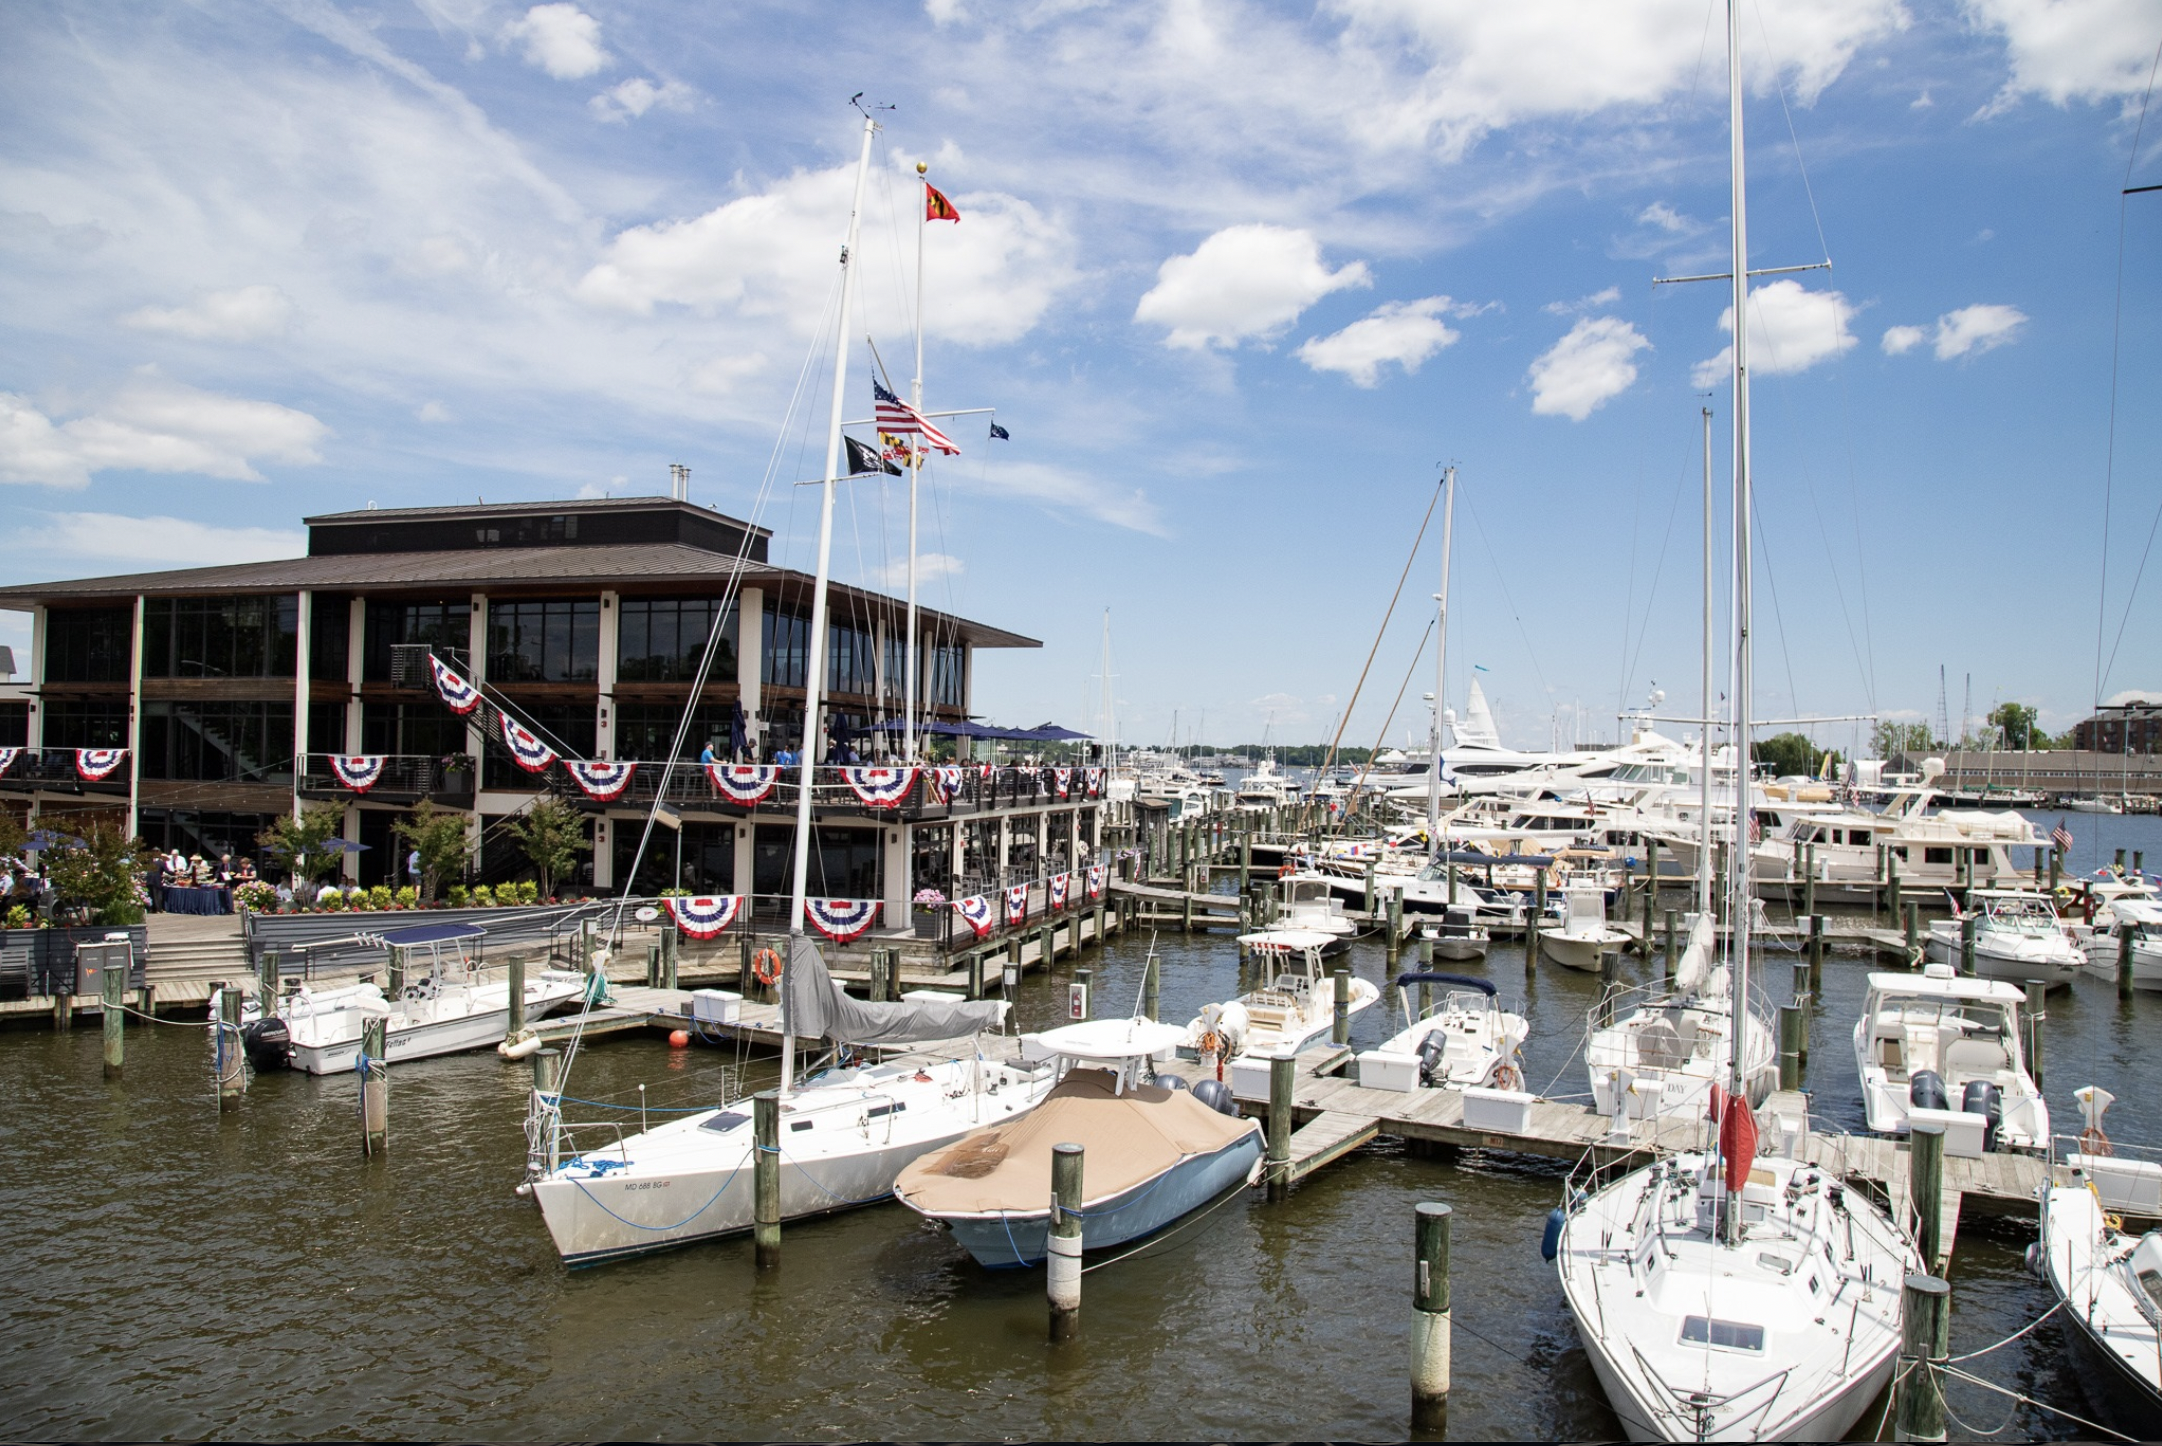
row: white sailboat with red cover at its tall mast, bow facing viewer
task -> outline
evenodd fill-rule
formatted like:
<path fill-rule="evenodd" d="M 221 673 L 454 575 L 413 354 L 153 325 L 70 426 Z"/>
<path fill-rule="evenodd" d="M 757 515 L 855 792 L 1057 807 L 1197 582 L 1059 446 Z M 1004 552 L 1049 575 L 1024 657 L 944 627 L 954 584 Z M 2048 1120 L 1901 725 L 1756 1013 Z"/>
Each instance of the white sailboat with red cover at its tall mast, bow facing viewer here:
<path fill-rule="evenodd" d="M 1734 186 L 1732 737 L 1749 739 L 1749 244 L 1740 0 L 1727 0 Z M 1736 769 L 1736 834 L 1749 769 Z M 1758 1152 L 1745 1096 L 1749 854 L 1730 878 L 1730 1063 L 1717 1143 L 1572 1178 L 1546 1254 L 1622 1427 L 1634 1440 L 1836 1442 L 1883 1392 L 1900 1347 L 1905 1234 L 1825 1167 L 1794 1159 L 1801 1124 Z"/>

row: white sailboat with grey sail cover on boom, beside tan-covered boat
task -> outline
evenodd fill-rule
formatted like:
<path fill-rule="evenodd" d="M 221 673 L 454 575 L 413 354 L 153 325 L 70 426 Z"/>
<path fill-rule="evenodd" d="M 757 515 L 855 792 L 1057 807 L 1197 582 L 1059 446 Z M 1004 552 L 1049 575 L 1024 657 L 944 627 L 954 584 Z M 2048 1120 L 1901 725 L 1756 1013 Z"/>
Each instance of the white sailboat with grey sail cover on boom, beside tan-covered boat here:
<path fill-rule="evenodd" d="M 865 115 L 856 199 L 841 251 L 841 335 L 835 339 L 832 417 L 826 430 L 826 480 L 819 506 L 817 581 L 811 601 L 811 657 L 804 698 L 802 787 L 796 804 L 796 873 L 789 958 L 780 977 L 780 1219 L 826 1215 L 891 1197 L 893 1180 L 917 1156 L 953 1143 L 995 1120 L 1033 1109 L 1049 1072 L 986 1061 L 971 1044 L 1005 1020 L 1005 1001 L 850 999 L 828 975 L 806 932 L 811 798 L 826 679 L 826 584 L 832 555 L 835 484 L 841 476 L 841 404 L 848 387 L 845 326 L 854 281 L 863 188 L 878 123 Z M 796 1040 L 837 1046 L 960 1042 L 947 1059 L 828 1068 L 796 1079 Z M 571 1264 L 644 1254 L 688 1241 L 750 1230 L 755 1221 L 755 1133 L 750 1100 L 683 1115 L 638 1135 L 610 1133 L 577 1150 L 562 1124 L 560 1096 L 538 1100 L 530 1193 L 558 1254 Z M 569 1159 L 564 1159 L 569 1154 Z"/>

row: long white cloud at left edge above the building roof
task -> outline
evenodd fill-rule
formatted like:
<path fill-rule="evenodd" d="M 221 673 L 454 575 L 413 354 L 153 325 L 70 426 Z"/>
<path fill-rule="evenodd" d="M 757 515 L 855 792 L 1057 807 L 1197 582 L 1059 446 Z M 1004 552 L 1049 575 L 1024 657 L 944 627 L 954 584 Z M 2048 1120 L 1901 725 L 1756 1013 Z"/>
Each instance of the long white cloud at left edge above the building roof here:
<path fill-rule="evenodd" d="M 86 486 L 93 471 L 190 471 L 262 482 L 255 460 L 320 463 L 326 428 L 305 411 L 199 391 L 145 367 L 104 406 L 54 424 L 0 393 L 0 482 Z"/>

